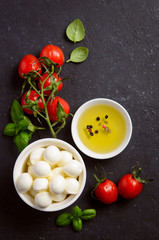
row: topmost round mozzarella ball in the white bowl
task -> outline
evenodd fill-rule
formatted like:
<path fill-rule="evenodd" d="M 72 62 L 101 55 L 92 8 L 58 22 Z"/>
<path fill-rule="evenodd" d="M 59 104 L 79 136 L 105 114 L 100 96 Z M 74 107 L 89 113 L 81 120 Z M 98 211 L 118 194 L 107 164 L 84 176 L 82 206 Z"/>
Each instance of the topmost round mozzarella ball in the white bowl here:
<path fill-rule="evenodd" d="M 61 158 L 61 152 L 56 146 L 49 146 L 45 149 L 44 159 L 51 165 L 56 164 Z"/>

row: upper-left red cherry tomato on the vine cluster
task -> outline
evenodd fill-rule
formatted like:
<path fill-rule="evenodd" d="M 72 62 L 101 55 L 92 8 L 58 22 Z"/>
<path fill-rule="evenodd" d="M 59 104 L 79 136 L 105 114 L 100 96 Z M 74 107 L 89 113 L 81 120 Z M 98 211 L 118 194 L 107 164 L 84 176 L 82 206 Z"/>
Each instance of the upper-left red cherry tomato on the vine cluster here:
<path fill-rule="evenodd" d="M 23 57 L 19 63 L 19 76 L 24 79 L 23 74 L 27 74 L 32 70 L 38 71 L 39 74 L 42 72 L 41 64 L 39 63 L 38 59 L 32 54 L 28 54 Z"/>

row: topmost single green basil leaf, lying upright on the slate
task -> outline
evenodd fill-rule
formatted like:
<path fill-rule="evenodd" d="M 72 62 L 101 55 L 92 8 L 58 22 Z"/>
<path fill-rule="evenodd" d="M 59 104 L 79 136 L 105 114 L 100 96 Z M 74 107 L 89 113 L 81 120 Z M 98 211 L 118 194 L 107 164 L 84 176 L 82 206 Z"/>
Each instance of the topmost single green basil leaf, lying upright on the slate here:
<path fill-rule="evenodd" d="M 80 42 L 85 37 L 85 29 L 79 18 L 74 20 L 66 29 L 67 37 L 74 43 Z"/>

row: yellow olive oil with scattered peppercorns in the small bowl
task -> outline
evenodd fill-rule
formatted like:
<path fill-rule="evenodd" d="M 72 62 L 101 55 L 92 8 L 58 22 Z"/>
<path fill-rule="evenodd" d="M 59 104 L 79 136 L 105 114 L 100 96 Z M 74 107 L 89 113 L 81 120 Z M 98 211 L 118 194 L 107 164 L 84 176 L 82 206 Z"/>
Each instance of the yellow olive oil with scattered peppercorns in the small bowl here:
<path fill-rule="evenodd" d="M 122 114 L 109 105 L 89 107 L 80 116 L 78 134 L 83 144 L 96 153 L 109 153 L 117 149 L 126 135 L 126 122 Z"/>

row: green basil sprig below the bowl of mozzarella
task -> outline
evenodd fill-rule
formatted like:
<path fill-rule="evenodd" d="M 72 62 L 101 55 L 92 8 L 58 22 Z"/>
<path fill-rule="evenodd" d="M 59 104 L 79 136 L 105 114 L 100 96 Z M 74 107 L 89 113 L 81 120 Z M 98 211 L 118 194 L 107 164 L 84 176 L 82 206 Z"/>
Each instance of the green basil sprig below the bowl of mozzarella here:
<path fill-rule="evenodd" d="M 56 219 L 56 225 L 63 227 L 70 225 L 75 231 L 79 232 L 82 230 L 82 220 L 90 220 L 96 216 L 95 209 L 85 209 L 81 210 L 78 206 L 75 206 L 71 213 L 62 213 Z"/>

